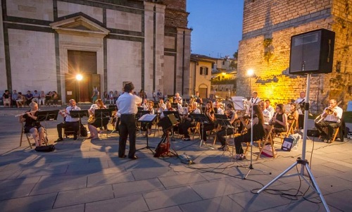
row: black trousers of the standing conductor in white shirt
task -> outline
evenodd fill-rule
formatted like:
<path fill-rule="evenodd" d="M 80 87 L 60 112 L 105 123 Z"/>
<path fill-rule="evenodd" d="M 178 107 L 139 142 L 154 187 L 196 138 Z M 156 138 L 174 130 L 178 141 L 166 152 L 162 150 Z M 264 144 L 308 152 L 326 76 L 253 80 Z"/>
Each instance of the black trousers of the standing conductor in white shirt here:
<path fill-rule="evenodd" d="M 130 137 L 130 151 L 128 157 L 132 158 L 136 153 L 136 116 L 134 114 L 121 114 L 120 139 L 118 142 L 118 156 L 125 156 L 127 137 Z"/>

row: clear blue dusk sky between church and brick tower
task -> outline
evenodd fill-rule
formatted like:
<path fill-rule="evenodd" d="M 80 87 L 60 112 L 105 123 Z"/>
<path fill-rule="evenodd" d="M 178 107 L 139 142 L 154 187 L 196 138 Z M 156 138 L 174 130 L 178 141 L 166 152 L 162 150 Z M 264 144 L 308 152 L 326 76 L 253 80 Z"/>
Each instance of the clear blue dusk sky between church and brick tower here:
<path fill-rule="evenodd" d="M 187 0 L 191 53 L 233 56 L 242 36 L 243 0 Z"/>

